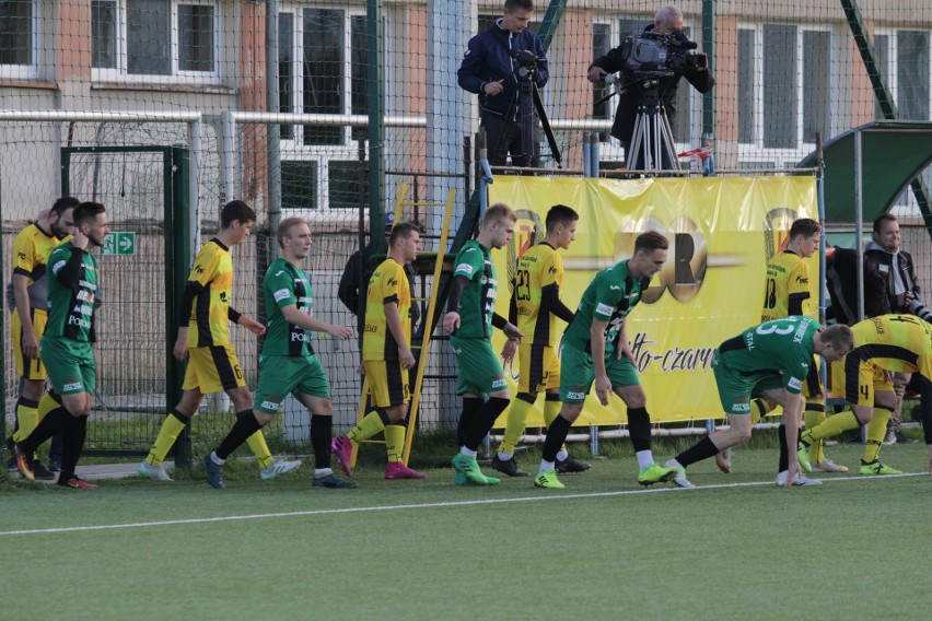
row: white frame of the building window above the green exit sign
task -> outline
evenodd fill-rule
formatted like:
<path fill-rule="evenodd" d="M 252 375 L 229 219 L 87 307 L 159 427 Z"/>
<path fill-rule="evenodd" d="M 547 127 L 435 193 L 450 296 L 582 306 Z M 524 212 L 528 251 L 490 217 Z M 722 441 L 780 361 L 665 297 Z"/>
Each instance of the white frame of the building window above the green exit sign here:
<path fill-rule="evenodd" d="M 128 0 L 101 0 L 116 4 L 116 67 L 92 67 L 91 79 L 95 82 L 133 82 L 150 84 L 220 84 L 223 80 L 221 72 L 221 52 L 223 50 L 223 28 L 221 2 L 218 0 L 171 0 L 171 24 L 168 33 L 170 72 L 165 75 L 129 72 L 129 52 L 127 47 Z M 178 28 L 179 5 L 200 5 L 213 8 L 213 69 L 211 71 L 180 70 L 180 36 Z M 93 45 L 93 43 L 92 43 Z"/>

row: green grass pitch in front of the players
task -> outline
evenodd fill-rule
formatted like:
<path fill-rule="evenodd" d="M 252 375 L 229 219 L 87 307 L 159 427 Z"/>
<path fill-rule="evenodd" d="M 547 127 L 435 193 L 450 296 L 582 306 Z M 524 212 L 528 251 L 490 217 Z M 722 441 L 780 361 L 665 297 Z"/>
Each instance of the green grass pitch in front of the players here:
<path fill-rule="evenodd" d="M 562 492 L 528 479 L 455 488 L 440 468 L 384 481 L 376 458 L 348 491 L 311 489 L 304 468 L 261 483 L 254 464 L 229 468 L 224 491 L 198 471 L 89 492 L 7 480 L 0 617 L 916 619 L 932 605 L 932 477 L 826 474 L 784 490 L 776 450 L 755 448 L 735 452 L 731 476 L 690 468 L 706 489 L 641 493 L 626 444 L 606 443 L 611 457 L 563 477 Z M 828 452 L 854 466 L 861 447 Z M 927 469 L 921 443 L 882 457 Z M 535 460 L 521 456 L 526 470 Z M 3 535 L 263 514 L 279 515 Z"/>

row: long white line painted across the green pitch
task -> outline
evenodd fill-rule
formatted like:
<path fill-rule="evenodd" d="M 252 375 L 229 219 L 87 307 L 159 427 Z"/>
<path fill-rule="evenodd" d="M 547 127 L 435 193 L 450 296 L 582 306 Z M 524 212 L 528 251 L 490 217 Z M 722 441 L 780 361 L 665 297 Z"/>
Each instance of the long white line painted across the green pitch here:
<path fill-rule="evenodd" d="M 900 479 L 905 477 L 925 477 L 924 472 L 906 472 L 904 474 L 883 474 L 875 477 L 831 477 L 830 479 L 820 479 L 822 481 L 874 481 L 878 479 Z M 701 490 L 721 490 L 729 488 L 759 488 L 762 485 L 772 485 L 773 481 L 755 481 L 750 483 L 722 483 L 717 485 L 701 485 L 694 491 Z M 527 502 L 544 502 L 544 501 L 567 501 L 576 499 L 598 499 L 613 496 L 630 496 L 637 494 L 657 494 L 669 492 L 687 492 L 681 488 L 653 488 L 649 490 L 624 490 L 617 492 L 591 492 L 585 494 L 555 494 L 549 496 L 520 496 L 515 499 L 487 499 L 475 501 L 452 501 L 445 503 L 422 503 L 422 504 L 400 504 L 400 505 L 377 505 L 377 506 L 360 506 L 348 508 L 325 508 L 316 511 L 291 511 L 283 513 L 258 513 L 247 515 L 228 515 L 221 517 L 193 517 L 189 519 L 163 519 L 158 522 L 135 522 L 130 524 L 102 524 L 97 526 L 63 526 L 59 528 L 36 528 L 32 530 L 0 530 L 0 537 L 13 537 L 18 535 L 48 535 L 50 532 L 82 532 L 88 530 L 115 530 L 119 528 L 148 528 L 151 526 L 174 526 L 178 524 L 210 524 L 215 522 L 242 522 L 247 519 L 269 519 L 276 517 L 307 517 L 318 515 L 337 515 L 343 513 L 368 513 L 382 511 L 400 511 L 400 509 L 419 509 L 419 508 L 448 508 L 473 505 L 492 505 L 504 503 L 527 503 Z M 93 492 L 86 492 L 93 493 Z"/>

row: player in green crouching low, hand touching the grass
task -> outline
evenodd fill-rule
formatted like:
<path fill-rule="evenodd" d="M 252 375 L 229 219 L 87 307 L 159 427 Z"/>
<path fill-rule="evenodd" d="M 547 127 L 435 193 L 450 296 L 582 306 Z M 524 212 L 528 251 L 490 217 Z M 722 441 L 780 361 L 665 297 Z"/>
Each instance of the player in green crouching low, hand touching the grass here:
<path fill-rule="evenodd" d="M 854 335 L 848 326 L 837 324 L 823 330 L 812 317 L 797 315 L 765 321 L 719 345 L 712 360 L 712 371 L 719 399 L 729 417 L 729 429 L 703 437 L 664 464 L 677 469 L 676 484 L 692 488 L 686 478 L 687 467 L 750 438 L 752 399 L 755 397 L 783 407 L 781 443 L 795 446 L 803 409 L 800 392 L 813 364 L 813 355 L 818 354 L 826 362 L 832 362 L 841 360 L 853 347 Z M 780 460 L 778 485 L 820 483 L 803 478 L 795 454 L 781 449 Z"/>

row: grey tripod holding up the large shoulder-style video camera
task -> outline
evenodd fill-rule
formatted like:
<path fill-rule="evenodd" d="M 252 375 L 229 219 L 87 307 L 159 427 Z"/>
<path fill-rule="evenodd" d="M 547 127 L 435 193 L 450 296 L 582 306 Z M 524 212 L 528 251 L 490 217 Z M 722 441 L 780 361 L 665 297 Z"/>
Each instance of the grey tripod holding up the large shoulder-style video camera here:
<path fill-rule="evenodd" d="M 634 169 L 643 171 L 679 171 L 673 129 L 669 127 L 666 109 L 657 93 L 656 78 L 644 80 L 642 86 L 643 96 L 638 106 L 631 144 L 628 145 L 630 156 L 626 154 L 625 157 L 628 168 L 636 166 Z"/>

